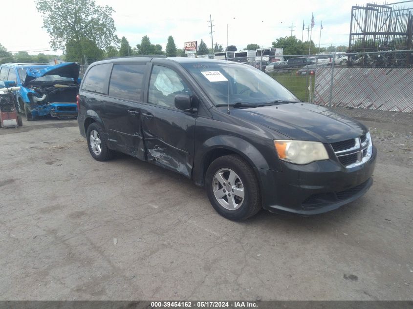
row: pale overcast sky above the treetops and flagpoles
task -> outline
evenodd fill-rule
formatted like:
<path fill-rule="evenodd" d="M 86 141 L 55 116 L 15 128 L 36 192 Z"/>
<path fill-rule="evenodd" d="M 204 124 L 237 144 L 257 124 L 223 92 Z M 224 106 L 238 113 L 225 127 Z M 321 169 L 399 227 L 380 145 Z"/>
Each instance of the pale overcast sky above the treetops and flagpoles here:
<path fill-rule="evenodd" d="M 3 1 L 2 1 L 3 2 Z M 209 16 L 212 15 L 214 43 L 222 46 L 228 43 L 243 49 L 248 43 L 264 47 L 279 37 L 289 36 L 293 23 L 293 35 L 301 40 L 303 20 L 305 27 L 314 13 L 315 26 L 312 39 L 318 46 L 320 24 L 323 21 L 321 46 L 348 45 L 351 6 L 368 1 L 355 0 L 95 0 L 98 5 L 112 6 L 116 13 L 113 19 L 119 38 L 125 36 L 131 46 L 139 43 L 144 35 L 153 44 L 161 44 L 165 49 L 169 35 L 177 48 L 183 48 L 185 41 L 202 39 L 211 47 Z M 17 5 L 18 4 L 18 5 Z M 43 21 L 37 12 L 34 0 L 4 1 L 1 4 L 1 21 L 6 30 L 2 31 L 0 43 L 9 51 L 26 50 L 37 54 L 50 49 L 50 38 L 42 28 Z M 304 31 L 304 41 L 307 32 Z M 43 51 L 53 54 L 53 51 Z"/>

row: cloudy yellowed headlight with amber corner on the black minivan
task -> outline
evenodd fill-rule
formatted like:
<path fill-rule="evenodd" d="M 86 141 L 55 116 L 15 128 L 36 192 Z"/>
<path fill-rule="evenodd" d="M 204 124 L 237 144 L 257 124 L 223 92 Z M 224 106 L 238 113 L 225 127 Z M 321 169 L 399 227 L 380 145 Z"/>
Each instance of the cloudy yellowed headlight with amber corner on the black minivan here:
<path fill-rule="evenodd" d="M 278 157 L 286 162 L 308 164 L 328 159 L 326 147 L 320 142 L 276 140 L 274 145 Z"/>

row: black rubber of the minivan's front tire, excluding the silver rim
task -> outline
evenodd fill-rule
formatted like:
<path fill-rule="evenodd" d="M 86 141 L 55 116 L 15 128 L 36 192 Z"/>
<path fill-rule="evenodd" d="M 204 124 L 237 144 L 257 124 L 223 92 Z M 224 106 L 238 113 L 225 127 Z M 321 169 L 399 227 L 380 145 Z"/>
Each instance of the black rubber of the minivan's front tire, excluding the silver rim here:
<path fill-rule="evenodd" d="M 244 185 L 244 202 L 237 210 L 228 210 L 223 208 L 217 202 L 212 188 L 212 178 L 217 170 L 221 168 L 230 168 L 235 171 Z M 215 210 L 224 218 L 232 221 L 242 221 L 257 214 L 261 208 L 261 190 L 258 178 L 254 169 L 239 155 L 222 156 L 214 160 L 209 165 L 205 175 L 205 187 L 209 201 Z"/>

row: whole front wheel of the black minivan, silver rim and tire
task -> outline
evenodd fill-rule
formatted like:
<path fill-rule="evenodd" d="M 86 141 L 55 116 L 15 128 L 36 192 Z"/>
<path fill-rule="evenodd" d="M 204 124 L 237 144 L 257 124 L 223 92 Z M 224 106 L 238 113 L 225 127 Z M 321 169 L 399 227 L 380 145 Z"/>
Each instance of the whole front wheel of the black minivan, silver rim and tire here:
<path fill-rule="evenodd" d="M 229 182 L 231 179 L 232 184 Z M 226 219 L 242 221 L 261 210 L 257 175 L 251 165 L 238 155 L 214 160 L 206 172 L 205 187 L 212 206 Z"/>

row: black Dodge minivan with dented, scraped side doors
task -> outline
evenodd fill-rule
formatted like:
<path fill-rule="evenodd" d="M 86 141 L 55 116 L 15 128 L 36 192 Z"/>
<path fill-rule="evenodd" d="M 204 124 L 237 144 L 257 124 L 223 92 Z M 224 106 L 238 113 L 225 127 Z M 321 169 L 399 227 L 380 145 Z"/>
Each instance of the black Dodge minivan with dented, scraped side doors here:
<path fill-rule="evenodd" d="M 205 186 L 219 214 L 336 209 L 372 185 L 368 129 L 302 103 L 260 70 L 212 59 L 127 57 L 92 63 L 78 95 L 92 157 L 115 151 Z"/>

